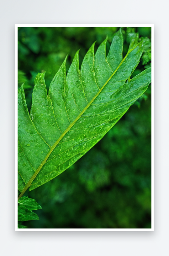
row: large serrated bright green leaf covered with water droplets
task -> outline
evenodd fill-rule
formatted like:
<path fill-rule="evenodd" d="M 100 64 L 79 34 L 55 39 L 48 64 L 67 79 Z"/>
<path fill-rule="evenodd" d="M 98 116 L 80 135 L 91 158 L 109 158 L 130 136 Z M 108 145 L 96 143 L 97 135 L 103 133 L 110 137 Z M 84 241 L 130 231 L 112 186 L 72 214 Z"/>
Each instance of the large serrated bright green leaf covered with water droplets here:
<path fill-rule="evenodd" d="M 85 55 L 81 72 L 78 52 L 66 76 L 66 58 L 47 94 L 44 73 L 38 73 L 30 115 L 23 86 L 18 94 L 19 198 L 61 174 L 92 148 L 145 92 L 151 68 L 129 79 L 143 53 L 143 41 L 130 44 L 122 60 L 119 30 L 106 58 L 107 38 L 94 55 Z M 126 83 L 126 81 L 128 81 Z"/>

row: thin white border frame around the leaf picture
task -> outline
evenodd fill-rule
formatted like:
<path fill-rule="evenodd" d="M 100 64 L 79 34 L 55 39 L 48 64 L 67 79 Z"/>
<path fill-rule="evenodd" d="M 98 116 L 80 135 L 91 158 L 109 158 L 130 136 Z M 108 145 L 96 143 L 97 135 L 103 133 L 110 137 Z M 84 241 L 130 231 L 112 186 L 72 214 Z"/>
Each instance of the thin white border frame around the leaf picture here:
<path fill-rule="evenodd" d="M 151 229 L 18 229 L 18 27 L 151 27 Z M 154 25 L 153 24 L 15 24 L 15 231 L 154 231 Z"/>

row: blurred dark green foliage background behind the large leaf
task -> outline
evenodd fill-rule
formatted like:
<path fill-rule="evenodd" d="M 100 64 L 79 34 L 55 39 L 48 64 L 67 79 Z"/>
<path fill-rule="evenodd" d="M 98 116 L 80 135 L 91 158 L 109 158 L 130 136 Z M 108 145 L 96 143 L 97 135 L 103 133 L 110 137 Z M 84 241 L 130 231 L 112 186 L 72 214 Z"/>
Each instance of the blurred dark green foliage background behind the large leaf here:
<path fill-rule="evenodd" d="M 92 43 L 108 35 L 107 54 L 118 27 L 18 28 L 18 88 L 24 83 L 28 109 L 34 78 L 44 72 L 47 90 L 65 56 L 68 71 Z M 145 41 L 132 76 L 151 66 L 151 27 L 124 27 L 124 52 L 131 38 Z M 141 37 L 139 39 L 139 37 Z M 43 209 L 28 228 L 151 228 L 151 85 L 119 122 L 73 166 L 26 192 Z"/>

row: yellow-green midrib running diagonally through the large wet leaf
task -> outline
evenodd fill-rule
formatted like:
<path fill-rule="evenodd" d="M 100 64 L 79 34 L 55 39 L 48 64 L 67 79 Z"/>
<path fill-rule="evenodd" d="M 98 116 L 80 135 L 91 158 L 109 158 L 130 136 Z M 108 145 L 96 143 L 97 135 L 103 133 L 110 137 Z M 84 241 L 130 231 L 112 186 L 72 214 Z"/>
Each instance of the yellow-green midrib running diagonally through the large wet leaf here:
<path fill-rule="evenodd" d="M 140 42 L 141 43 L 141 42 Z M 139 44 L 140 44 L 139 43 Z M 53 152 L 53 150 L 55 149 L 55 147 L 57 146 L 57 144 L 61 141 L 61 139 L 66 135 L 66 133 L 71 129 L 71 127 L 77 122 L 77 120 L 82 116 L 82 114 L 87 110 L 87 108 L 92 104 L 92 102 L 97 98 L 97 96 L 100 94 L 100 92 L 103 90 L 103 88 L 106 86 L 106 84 L 110 81 L 110 79 L 114 76 L 114 74 L 116 73 L 116 71 L 119 69 L 119 67 L 122 65 L 122 63 L 124 62 L 124 60 L 126 59 L 126 57 L 129 55 L 130 52 L 132 52 L 136 47 L 138 46 L 138 44 L 133 48 L 130 49 L 127 54 L 125 55 L 125 57 L 123 58 L 123 60 L 120 62 L 119 66 L 116 68 L 116 70 L 114 71 L 114 73 L 109 77 L 109 79 L 106 81 L 106 83 L 102 86 L 101 89 L 99 89 L 99 91 L 97 92 L 97 94 L 92 98 L 92 100 L 87 104 L 87 106 L 82 110 L 82 112 L 77 116 L 77 118 L 66 128 L 66 130 L 61 134 L 61 136 L 57 139 L 57 141 L 53 144 L 53 146 L 51 146 L 50 151 L 48 152 L 48 154 L 45 156 L 44 160 L 42 161 L 42 163 L 40 164 L 40 166 L 38 167 L 38 169 L 35 171 L 35 173 L 33 174 L 33 176 L 30 178 L 29 182 L 26 184 L 26 186 L 24 187 L 24 189 L 22 190 L 21 194 L 18 196 L 18 200 L 24 195 L 24 193 L 26 192 L 26 190 L 31 186 L 31 183 L 33 182 L 33 180 L 35 179 L 35 177 L 38 175 L 38 173 L 40 172 L 40 170 L 42 169 L 42 167 L 44 166 L 44 164 L 46 163 L 47 159 L 49 158 L 50 154 Z"/>

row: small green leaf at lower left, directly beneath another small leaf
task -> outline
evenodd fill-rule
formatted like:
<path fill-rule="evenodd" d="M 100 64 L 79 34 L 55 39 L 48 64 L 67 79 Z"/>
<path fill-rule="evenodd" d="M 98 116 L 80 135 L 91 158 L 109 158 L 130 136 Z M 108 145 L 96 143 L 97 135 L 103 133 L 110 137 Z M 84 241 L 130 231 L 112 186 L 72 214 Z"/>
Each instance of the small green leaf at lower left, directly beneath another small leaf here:
<path fill-rule="evenodd" d="M 27 221 L 27 220 L 38 220 L 39 217 L 36 213 L 27 209 L 23 205 L 18 205 L 18 221 Z"/>

